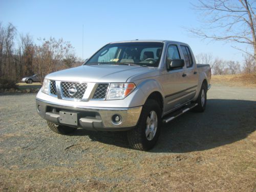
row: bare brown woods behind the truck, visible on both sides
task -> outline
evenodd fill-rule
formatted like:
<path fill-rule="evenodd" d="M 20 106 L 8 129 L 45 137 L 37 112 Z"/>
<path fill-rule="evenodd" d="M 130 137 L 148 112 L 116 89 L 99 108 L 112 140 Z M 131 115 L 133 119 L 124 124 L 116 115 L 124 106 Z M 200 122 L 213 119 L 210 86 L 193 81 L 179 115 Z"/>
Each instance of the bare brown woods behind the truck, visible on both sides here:
<path fill-rule="evenodd" d="M 25 76 L 38 73 L 42 81 L 51 72 L 81 65 L 70 42 L 53 37 L 38 40 L 36 45 L 29 34 L 19 34 L 12 24 L 0 23 L 1 79 L 19 82 Z M 210 64 L 214 75 L 256 73 L 255 59 L 250 54 L 244 56 L 243 63 L 214 58 L 207 53 L 197 54 L 196 60 Z"/>

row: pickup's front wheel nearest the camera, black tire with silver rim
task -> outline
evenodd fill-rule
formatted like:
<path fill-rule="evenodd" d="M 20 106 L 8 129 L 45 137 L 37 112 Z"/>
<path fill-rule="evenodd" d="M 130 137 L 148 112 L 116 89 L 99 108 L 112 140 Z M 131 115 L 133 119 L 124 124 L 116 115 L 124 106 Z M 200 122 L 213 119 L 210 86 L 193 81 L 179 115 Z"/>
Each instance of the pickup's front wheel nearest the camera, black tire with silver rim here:
<path fill-rule="evenodd" d="M 141 151 L 153 148 L 160 135 L 160 125 L 161 108 L 156 100 L 148 99 L 142 108 L 137 127 L 127 132 L 130 146 Z"/>

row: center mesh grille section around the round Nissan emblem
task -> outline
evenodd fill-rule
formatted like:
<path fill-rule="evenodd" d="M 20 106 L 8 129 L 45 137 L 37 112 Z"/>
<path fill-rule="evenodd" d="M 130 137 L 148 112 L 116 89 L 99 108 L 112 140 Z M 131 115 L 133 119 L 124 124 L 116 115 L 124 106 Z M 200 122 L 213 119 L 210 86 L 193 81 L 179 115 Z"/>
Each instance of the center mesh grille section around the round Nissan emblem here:
<path fill-rule="evenodd" d="M 75 86 L 77 92 L 74 95 L 69 94 L 69 89 Z M 61 89 L 64 97 L 74 98 L 74 99 L 82 99 L 84 92 L 87 89 L 87 83 L 79 83 L 79 82 L 61 82 Z"/>

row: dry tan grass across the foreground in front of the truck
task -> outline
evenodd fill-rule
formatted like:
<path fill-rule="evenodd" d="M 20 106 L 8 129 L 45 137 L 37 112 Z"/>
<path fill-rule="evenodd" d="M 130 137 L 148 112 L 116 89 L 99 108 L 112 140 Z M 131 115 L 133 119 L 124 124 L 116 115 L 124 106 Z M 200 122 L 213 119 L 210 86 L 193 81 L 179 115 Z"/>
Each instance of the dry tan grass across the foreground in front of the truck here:
<path fill-rule="evenodd" d="M 0 191 L 255 191 L 256 133 L 245 140 L 201 152 L 150 154 L 87 143 L 129 159 L 98 157 L 74 166 L 1 167 Z M 103 151 L 104 151 L 103 150 Z M 134 162 L 141 156 L 140 162 Z M 88 158 L 88 157 L 87 157 Z M 95 159 L 95 160 L 93 160 Z M 99 166 L 101 164 L 102 166 Z"/>

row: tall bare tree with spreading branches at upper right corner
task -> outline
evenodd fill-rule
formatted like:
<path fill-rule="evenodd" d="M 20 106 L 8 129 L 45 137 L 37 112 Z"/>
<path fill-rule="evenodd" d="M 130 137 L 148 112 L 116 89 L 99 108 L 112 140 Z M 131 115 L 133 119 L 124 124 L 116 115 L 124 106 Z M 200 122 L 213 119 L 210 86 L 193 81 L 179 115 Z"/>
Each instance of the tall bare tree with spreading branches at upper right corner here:
<path fill-rule="evenodd" d="M 254 0 L 198 0 L 193 5 L 200 13 L 204 25 L 200 29 L 190 29 L 197 37 L 224 40 L 248 45 L 249 51 L 234 47 L 256 59 L 256 15 Z"/>

